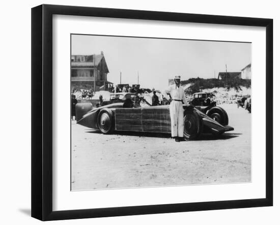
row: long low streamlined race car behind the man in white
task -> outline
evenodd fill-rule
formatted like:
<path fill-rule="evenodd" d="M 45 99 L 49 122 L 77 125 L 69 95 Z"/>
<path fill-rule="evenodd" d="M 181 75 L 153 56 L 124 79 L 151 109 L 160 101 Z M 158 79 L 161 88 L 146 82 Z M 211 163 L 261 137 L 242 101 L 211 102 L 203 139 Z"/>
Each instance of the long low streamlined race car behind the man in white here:
<path fill-rule="evenodd" d="M 219 135 L 234 130 L 228 124 L 222 125 L 192 106 L 183 108 L 186 139 L 199 138 L 202 133 Z M 100 130 L 103 134 L 113 131 L 171 133 L 169 105 L 124 108 L 123 103 L 114 103 L 90 109 L 80 104 L 76 110 L 84 110 L 79 113 L 77 124 Z"/>

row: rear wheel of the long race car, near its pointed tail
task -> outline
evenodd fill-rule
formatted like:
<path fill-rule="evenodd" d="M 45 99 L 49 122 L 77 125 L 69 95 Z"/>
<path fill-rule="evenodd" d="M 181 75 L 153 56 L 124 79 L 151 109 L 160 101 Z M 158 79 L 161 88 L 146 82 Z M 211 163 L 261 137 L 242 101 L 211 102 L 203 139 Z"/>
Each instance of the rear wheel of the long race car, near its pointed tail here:
<path fill-rule="evenodd" d="M 108 110 L 101 110 L 98 114 L 97 125 L 101 133 L 109 134 L 113 130 L 113 113 Z"/>

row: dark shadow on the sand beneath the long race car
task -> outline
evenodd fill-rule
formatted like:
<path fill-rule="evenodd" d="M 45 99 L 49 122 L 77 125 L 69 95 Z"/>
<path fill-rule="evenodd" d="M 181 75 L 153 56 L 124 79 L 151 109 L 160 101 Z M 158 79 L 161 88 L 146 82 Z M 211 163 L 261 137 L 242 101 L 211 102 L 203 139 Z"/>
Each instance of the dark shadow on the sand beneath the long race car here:
<path fill-rule="evenodd" d="M 99 130 L 87 130 L 86 133 L 101 134 Z M 150 133 L 150 132 L 128 132 L 128 131 L 115 131 L 113 134 L 133 137 L 149 137 L 149 138 L 171 138 L 171 134 L 163 133 Z M 202 134 L 200 138 L 192 141 L 205 141 L 205 140 L 227 140 L 239 137 L 240 133 L 224 133 L 221 135 Z"/>

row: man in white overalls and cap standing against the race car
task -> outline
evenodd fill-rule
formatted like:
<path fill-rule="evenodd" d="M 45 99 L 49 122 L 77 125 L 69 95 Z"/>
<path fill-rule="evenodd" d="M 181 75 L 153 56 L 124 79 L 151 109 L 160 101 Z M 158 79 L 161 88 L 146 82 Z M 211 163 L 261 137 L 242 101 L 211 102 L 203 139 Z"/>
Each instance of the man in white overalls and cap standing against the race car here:
<path fill-rule="evenodd" d="M 170 104 L 171 136 L 175 138 L 176 142 L 179 142 L 183 139 L 184 134 L 184 110 L 182 102 L 188 105 L 184 89 L 181 86 L 181 76 L 175 76 L 175 84 L 169 86 L 166 93 L 172 98 Z"/>

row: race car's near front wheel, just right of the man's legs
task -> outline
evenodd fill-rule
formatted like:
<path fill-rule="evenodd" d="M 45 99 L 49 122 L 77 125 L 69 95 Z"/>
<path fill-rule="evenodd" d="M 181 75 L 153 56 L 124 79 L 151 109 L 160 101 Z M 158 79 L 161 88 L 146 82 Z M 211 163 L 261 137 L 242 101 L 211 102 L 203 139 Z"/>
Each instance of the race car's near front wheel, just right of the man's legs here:
<path fill-rule="evenodd" d="M 184 138 L 197 139 L 203 131 L 203 121 L 195 110 L 186 110 L 184 113 Z"/>

